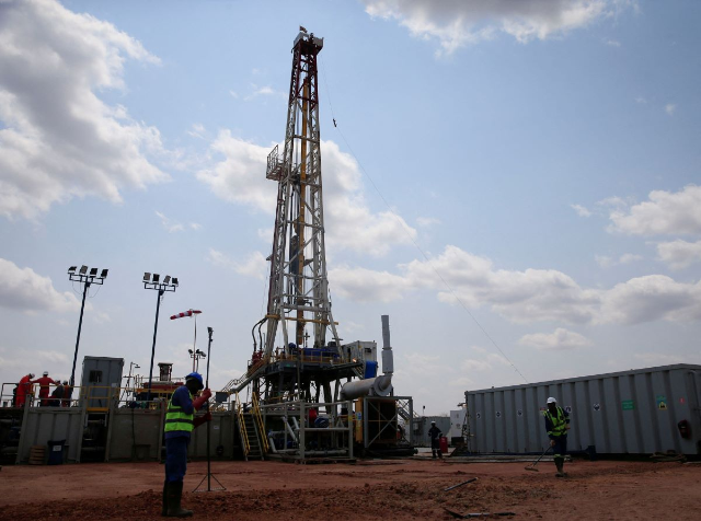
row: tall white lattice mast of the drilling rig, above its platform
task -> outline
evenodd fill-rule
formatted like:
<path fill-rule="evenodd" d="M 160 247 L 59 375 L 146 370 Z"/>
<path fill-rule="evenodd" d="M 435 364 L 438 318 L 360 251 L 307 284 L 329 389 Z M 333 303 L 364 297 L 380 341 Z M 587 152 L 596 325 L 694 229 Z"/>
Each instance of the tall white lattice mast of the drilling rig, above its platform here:
<path fill-rule="evenodd" d="M 300 27 L 301 30 L 301 27 Z M 326 345 L 326 333 L 340 344 L 329 301 L 319 135 L 317 55 L 323 47 L 301 30 L 292 47 L 292 74 L 287 106 L 285 149 L 267 157 L 266 177 L 277 181 L 277 208 L 271 255 L 267 335 L 264 357 L 275 346 L 281 326 L 285 349 L 302 347 L 313 325 L 313 345 Z M 290 333 L 287 323 L 294 322 Z"/>

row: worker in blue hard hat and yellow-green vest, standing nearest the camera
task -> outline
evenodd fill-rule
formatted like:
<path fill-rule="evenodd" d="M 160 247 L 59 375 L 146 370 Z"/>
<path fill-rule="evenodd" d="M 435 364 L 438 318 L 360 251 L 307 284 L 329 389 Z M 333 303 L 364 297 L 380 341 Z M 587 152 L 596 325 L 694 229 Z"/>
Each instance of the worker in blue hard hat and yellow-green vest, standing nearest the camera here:
<path fill-rule="evenodd" d="M 180 503 L 183 497 L 183 478 L 187 471 L 189 433 L 195 427 L 211 419 L 209 412 L 195 418 L 195 410 L 199 410 L 211 396 L 211 391 L 205 389 L 202 396 L 193 400 L 193 396 L 204 386 L 202 375 L 191 372 L 185 377 L 185 385 L 177 387 L 168 403 L 162 516 L 169 518 L 187 518 L 193 514 L 192 510 L 181 508 Z"/>

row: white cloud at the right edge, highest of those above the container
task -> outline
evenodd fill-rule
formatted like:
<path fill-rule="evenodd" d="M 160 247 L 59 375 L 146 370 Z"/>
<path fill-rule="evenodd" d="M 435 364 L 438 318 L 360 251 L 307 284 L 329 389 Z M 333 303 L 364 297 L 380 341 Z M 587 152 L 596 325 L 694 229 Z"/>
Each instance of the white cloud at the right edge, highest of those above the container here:
<path fill-rule="evenodd" d="M 648 199 L 612 210 L 609 231 L 634 235 L 701 233 L 701 186 L 689 185 L 676 193 L 653 190 Z"/>

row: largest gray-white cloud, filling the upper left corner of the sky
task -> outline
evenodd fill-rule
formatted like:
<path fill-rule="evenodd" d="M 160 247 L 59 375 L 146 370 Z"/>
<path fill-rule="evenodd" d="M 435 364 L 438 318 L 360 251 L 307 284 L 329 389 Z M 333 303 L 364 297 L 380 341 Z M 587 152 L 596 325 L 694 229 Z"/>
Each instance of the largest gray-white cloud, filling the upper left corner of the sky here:
<path fill-rule="evenodd" d="M 55 202 L 169 178 L 157 128 L 108 106 L 100 90 L 124 89 L 126 59 L 158 63 L 114 25 L 55 0 L 0 2 L 0 213 L 36 218 Z"/>

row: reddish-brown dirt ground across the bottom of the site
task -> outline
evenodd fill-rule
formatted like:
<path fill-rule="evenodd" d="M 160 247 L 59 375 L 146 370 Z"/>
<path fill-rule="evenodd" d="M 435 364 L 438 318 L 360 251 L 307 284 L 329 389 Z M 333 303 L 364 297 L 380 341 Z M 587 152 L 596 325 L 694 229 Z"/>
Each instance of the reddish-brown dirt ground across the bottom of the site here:
<path fill-rule="evenodd" d="M 701 465 L 575 461 L 564 479 L 552 463 L 541 462 L 538 473 L 525 465 L 214 462 L 227 490 L 192 493 L 207 472 L 205 462 L 193 462 L 183 506 L 208 520 L 455 519 L 446 508 L 516 514 L 499 519 L 701 519 Z M 158 463 L 5 466 L 0 520 L 161 519 L 162 483 Z"/>

